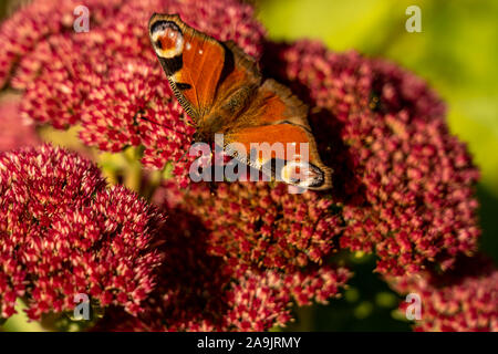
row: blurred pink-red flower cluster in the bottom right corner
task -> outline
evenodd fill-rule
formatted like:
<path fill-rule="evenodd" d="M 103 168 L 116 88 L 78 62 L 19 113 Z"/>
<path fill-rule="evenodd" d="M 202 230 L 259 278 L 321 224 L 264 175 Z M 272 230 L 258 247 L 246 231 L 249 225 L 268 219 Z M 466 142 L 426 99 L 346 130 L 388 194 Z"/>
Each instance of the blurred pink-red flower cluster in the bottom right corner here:
<path fill-rule="evenodd" d="M 498 270 L 483 257 L 460 258 L 445 273 L 392 280 L 400 293 L 421 296 L 415 331 L 498 331 Z M 401 305 L 406 311 L 408 303 Z"/>

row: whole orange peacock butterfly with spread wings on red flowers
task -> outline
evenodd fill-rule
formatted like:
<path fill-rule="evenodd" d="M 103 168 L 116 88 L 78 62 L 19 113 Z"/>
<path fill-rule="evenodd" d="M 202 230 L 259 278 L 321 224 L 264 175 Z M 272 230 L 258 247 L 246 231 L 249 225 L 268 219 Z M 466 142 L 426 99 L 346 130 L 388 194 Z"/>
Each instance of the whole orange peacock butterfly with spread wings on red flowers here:
<path fill-rule="evenodd" d="M 320 159 L 308 123 L 309 108 L 289 87 L 263 79 L 255 60 L 234 42 L 206 35 L 178 14 L 154 13 L 148 29 L 172 91 L 195 123 L 195 140 L 212 143 L 215 134 L 224 134 L 225 146 L 239 146 L 229 155 L 245 164 L 250 164 L 243 156 L 250 155 L 253 144 L 280 143 L 287 154 L 281 168 L 273 167 L 272 177 L 305 189 L 332 187 L 332 169 Z M 305 160 L 301 152 L 291 153 L 291 147 L 303 143 Z M 250 166 L 260 170 L 282 159 L 274 153 L 258 158 Z M 291 167 L 305 173 L 290 173 Z"/>

